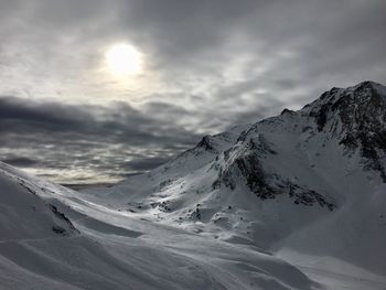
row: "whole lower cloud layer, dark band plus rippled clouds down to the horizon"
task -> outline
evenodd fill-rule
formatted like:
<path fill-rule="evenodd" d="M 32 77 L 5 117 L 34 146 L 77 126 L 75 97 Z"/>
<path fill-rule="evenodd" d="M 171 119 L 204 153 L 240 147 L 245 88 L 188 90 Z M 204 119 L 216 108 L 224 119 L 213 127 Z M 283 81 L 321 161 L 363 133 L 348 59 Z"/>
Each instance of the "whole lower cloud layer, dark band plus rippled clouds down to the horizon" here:
<path fill-rule="evenodd" d="M 159 109 L 168 110 L 168 106 Z M 200 139 L 121 103 L 79 108 L 0 97 L 0 123 L 3 162 L 103 171 L 111 178 L 161 165 Z"/>

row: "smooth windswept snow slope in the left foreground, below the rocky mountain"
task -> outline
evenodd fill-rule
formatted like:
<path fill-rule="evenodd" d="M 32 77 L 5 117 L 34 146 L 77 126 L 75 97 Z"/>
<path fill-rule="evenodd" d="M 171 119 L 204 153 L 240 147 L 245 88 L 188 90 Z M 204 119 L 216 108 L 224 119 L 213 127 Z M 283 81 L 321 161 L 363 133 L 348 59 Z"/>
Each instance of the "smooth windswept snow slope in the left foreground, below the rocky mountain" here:
<path fill-rule="evenodd" d="M 271 255 L 132 218 L 3 163 L 0 196 L 0 289 L 318 289 Z"/>

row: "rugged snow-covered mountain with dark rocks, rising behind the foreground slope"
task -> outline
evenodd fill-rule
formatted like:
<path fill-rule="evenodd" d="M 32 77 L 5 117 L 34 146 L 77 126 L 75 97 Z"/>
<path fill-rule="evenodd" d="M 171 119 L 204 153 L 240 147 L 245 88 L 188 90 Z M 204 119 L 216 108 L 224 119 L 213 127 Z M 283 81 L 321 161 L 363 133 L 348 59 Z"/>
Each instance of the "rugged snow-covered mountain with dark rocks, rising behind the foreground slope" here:
<path fill-rule="evenodd" d="M 386 87 L 364 82 L 206 136 L 93 198 L 290 261 L 322 255 L 333 258 L 312 262 L 339 259 L 385 277 L 385 152 Z"/>

